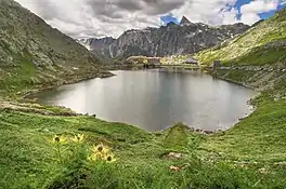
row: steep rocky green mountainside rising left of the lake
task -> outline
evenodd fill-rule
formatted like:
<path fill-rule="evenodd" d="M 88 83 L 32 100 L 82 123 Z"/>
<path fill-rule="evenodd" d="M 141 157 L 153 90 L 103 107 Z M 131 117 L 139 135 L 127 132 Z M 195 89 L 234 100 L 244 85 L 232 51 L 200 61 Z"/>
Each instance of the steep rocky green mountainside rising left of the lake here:
<path fill-rule="evenodd" d="M 101 62 L 13 0 L 0 0 L 0 92 L 100 76 Z"/>

